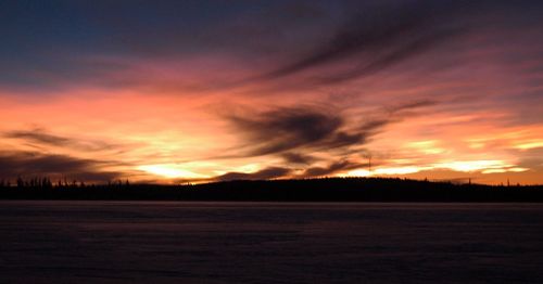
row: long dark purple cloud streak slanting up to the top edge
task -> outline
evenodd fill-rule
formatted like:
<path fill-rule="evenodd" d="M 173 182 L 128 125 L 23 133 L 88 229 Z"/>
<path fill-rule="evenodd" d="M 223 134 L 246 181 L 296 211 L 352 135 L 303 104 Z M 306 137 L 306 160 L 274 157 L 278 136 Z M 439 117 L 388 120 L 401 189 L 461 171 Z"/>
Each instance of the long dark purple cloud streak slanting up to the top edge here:
<path fill-rule="evenodd" d="M 451 27 L 451 20 L 456 10 L 457 7 L 452 3 L 431 1 L 365 8 L 313 52 L 256 79 L 279 79 L 344 60 L 361 63 L 354 69 L 332 74 L 319 81 L 338 83 L 370 75 L 466 31 Z"/>

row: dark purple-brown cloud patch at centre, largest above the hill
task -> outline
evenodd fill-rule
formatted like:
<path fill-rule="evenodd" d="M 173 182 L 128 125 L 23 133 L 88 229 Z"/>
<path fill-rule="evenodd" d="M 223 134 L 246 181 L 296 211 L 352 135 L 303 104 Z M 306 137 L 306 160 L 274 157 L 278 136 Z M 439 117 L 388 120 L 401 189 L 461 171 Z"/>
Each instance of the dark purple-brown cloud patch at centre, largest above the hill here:
<path fill-rule="evenodd" d="M 227 119 L 244 138 L 241 152 L 245 156 L 281 154 L 294 163 L 308 162 L 302 155 L 307 151 L 333 151 L 362 146 L 389 124 L 404 119 L 403 114 L 432 105 L 432 101 L 396 105 L 370 118 L 348 117 L 333 107 L 299 105 L 278 107 L 263 113 L 229 115 Z M 349 121 L 348 121 L 349 120 Z M 296 155 L 292 154 L 298 151 Z"/>

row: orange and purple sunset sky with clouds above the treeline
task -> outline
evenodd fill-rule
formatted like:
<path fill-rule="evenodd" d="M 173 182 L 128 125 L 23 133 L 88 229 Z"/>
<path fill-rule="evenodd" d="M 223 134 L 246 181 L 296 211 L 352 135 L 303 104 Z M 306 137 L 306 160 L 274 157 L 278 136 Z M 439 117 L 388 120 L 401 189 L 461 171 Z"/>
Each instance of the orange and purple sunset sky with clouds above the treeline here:
<path fill-rule="evenodd" d="M 541 1 L 0 2 L 0 179 L 543 183 Z"/>

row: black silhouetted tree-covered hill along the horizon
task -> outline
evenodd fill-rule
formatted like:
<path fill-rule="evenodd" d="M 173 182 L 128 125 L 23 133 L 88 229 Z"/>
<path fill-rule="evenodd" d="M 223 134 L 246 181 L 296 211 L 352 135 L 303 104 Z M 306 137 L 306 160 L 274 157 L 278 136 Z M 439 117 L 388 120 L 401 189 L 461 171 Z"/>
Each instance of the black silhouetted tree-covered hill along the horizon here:
<path fill-rule="evenodd" d="M 386 178 L 224 181 L 194 185 L 59 184 L 0 186 L 1 199 L 262 202 L 543 202 L 543 185 L 494 186 Z"/>

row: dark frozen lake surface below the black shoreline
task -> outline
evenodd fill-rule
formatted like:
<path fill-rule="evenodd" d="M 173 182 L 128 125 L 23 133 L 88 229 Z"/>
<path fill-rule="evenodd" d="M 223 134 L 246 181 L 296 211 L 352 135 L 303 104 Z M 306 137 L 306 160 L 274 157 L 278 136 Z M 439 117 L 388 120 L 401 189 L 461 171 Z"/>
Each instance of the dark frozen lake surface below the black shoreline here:
<path fill-rule="evenodd" d="M 543 205 L 0 202 L 0 283 L 543 280 Z"/>

